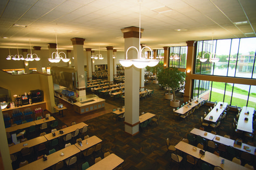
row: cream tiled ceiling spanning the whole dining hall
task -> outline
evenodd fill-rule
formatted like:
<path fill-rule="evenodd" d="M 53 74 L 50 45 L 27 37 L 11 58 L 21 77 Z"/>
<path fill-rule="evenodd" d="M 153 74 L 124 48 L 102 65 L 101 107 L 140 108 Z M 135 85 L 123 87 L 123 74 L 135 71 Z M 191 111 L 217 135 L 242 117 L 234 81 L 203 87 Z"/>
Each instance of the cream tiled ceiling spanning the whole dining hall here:
<path fill-rule="evenodd" d="M 164 5 L 172 11 L 152 10 Z M 255 37 L 255 6 L 255 0 L 143 0 L 141 43 L 163 49 L 187 40 Z M 48 49 L 57 34 L 59 49 L 72 50 L 70 39 L 79 37 L 85 38 L 84 48 L 123 51 L 121 29 L 139 26 L 138 0 L 1 0 L 0 12 L 3 48 L 30 49 L 31 42 Z M 248 24 L 234 24 L 243 21 Z"/>

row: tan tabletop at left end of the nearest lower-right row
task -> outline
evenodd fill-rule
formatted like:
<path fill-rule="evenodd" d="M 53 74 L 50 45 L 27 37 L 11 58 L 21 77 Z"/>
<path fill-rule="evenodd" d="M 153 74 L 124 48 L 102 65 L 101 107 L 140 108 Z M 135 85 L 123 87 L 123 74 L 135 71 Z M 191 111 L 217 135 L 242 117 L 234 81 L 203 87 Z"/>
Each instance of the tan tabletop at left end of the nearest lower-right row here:
<path fill-rule="evenodd" d="M 198 147 L 195 147 L 193 145 L 187 144 L 186 142 L 180 141 L 176 146 L 176 149 L 185 152 L 187 154 L 190 154 L 192 157 L 195 157 L 197 159 L 201 158 L 201 154 L 199 153 L 199 151 L 201 150 Z"/>

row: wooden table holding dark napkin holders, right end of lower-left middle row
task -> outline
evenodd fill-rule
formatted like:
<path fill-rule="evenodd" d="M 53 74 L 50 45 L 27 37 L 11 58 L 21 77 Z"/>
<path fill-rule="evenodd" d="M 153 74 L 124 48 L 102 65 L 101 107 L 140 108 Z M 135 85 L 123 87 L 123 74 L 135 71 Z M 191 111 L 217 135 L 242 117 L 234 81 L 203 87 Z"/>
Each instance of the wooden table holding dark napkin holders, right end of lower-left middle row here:
<path fill-rule="evenodd" d="M 55 138 L 59 138 L 63 135 L 66 135 L 68 133 L 71 133 L 71 132 L 75 132 L 77 129 L 82 129 L 84 126 L 88 126 L 86 125 L 85 123 L 79 123 L 79 124 L 76 124 L 76 125 L 72 125 L 72 126 L 69 126 L 69 127 L 66 127 L 66 128 L 63 128 L 62 131 L 63 131 L 63 134 L 60 134 L 59 131 L 55 131 L 55 136 L 53 137 L 52 133 L 48 133 L 48 134 L 45 134 L 45 138 L 47 140 L 52 140 L 52 139 L 55 139 Z"/>

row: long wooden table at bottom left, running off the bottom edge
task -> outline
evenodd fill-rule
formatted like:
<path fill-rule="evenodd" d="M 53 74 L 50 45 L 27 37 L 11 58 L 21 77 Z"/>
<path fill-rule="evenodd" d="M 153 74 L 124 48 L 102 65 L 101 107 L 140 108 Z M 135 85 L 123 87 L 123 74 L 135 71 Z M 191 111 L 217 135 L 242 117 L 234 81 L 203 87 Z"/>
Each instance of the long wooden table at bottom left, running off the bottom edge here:
<path fill-rule="evenodd" d="M 64 149 L 61 149 L 55 153 L 52 153 L 47 156 L 46 161 L 43 159 L 38 159 L 36 161 L 31 162 L 28 165 L 25 165 L 21 168 L 18 168 L 19 170 L 28 170 L 28 169 L 37 169 L 37 170 L 43 170 L 48 167 L 51 167 L 52 165 L 57 164 L 59 161 L 63 161 L 65 159 L 68 159 L 69 157 L 72 157 L 73 155 L 80 152 L 80 149 L 78 149 L 75 145 L 71 145 L 69 147 L 65 147 Z M 63 153 L 63 155 L 61 155 Z"/>

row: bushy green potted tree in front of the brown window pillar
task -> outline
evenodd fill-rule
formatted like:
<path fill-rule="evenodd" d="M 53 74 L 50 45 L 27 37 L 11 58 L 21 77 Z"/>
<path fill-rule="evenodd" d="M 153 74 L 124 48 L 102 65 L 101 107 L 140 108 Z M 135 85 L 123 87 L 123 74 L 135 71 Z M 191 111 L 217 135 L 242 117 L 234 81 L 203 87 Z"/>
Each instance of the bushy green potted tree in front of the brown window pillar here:
<path fill-rule="evenodd" d="M 177 67 L 167 67 L 158 73 L 159 84 L 166 85 L 168 88 L 165 98 L 170 100 L 170 106 L 172 107 L 179 107 L 180 101 L 176 100 L 175 91 L 184 84 L 185 77 L 186 73 L 179 71 Z"/>

